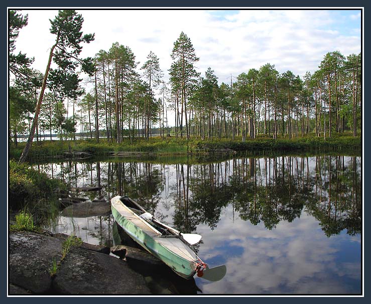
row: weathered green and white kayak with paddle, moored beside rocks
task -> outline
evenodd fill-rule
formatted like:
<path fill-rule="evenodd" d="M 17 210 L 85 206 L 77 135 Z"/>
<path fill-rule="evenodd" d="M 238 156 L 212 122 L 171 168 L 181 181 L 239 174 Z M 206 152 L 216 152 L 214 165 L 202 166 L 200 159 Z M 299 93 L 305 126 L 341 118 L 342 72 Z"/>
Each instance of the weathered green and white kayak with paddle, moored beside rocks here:
<path fill-rule="evenodd" d="M 145 250 L 159 258 L 179 276 L 197 276 L 218 281 L 226 273 L 225 265 L 209 268 L 189 247 L 200 241 L 198 234 L 185 234 L 162 223 L 129 196 L 111 199 L 114 220 Z"/>

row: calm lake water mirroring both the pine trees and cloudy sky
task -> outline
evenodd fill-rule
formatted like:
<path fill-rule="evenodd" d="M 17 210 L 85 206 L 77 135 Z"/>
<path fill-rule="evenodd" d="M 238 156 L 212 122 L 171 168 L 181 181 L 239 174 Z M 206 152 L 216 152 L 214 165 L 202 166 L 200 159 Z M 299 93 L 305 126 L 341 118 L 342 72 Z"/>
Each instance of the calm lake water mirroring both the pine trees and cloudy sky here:
<path fill-rule="evenodd" d="M 71 186 L 102 186 L 99 192 L 80 193 L 90 199 L 131 196 L 164 222 L 201 234 L 194 249 L 210 267 L 227 266 L 222 280 L 195 276 L 188 289 L 171 277 L 147 275 L 147 281 L 161 281 L 156 292 L 361 292 L 360 157 L 161 163 L 110 158 L 35 167 Z M 49 229 L 112 246 L 113 224 L 112 216 L 59 217 Z"/>

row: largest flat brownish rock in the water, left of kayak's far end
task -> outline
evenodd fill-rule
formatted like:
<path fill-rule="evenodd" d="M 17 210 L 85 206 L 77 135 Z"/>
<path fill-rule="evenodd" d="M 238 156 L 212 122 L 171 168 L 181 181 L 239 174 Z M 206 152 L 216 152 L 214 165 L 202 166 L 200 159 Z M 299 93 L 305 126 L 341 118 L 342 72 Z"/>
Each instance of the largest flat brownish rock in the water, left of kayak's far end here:
<path fill-rule="evenodd" d="M 68 206 L 61 212 L 61 216 L 70 218 L 88 218 L 106 216 L 111 213 L 111 205 L 108 202 L 80 202 Z"/>

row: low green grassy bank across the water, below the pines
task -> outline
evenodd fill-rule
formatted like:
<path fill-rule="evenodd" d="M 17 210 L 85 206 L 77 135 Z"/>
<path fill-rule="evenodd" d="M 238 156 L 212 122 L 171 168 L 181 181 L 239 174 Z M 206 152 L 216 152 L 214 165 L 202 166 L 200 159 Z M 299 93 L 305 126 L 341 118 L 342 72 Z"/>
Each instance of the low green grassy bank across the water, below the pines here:
<path fill-rule="evenodd" d="M 18 159 L 25 143 L 18 147 L 10 147 L 10 157 Z M 107 143 L 101 139 L 96 143 L 94 139 L 76 141 L 42 141 L 33 143 L 30 150 L 30 159 L 40 159 L 64 155 L 65 151 L 87 152 L 95 156 L 107 155 L 112 151 L 138 151 L 155 152 L 159 155 L 186 155 L 187 153 L 203 154 L 219 149 L 231 149 L 237 152 L 251 152 L 257 154 L 265 153 L 287 153 L 287 152 L 345 152 L 361 151 L 361 139 L 359 136 L 337 135 L 331 139 L 324 140 L 314 136 L 299 137 L 293 139 L 277 139 L 258 137 L 257 139 L 213 139 L 213 140 L 186 140 L 182 138 L 151 138 L 149 141 L 138 138 L 130 142 L 126 139 L 120 144 Z"/>

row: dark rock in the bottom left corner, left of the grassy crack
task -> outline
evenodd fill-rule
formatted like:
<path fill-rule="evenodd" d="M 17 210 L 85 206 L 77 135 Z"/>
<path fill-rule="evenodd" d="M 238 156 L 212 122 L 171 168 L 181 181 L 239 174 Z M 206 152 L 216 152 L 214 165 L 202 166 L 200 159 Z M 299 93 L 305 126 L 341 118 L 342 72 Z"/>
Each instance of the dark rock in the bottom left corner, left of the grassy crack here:
<path fill-rule="evenodd" d="M 32 293 L 48 293 L 52 287 L 49 269 L 60 260 L 62 241 L 31 232 L 9 236 L 9 281 Z"/>

